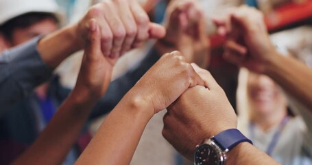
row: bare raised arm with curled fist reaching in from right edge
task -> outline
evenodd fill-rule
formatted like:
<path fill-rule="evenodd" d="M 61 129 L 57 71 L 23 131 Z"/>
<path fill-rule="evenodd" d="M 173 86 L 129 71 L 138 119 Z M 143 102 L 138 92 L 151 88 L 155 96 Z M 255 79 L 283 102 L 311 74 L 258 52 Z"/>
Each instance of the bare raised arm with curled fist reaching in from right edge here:
<path fill-rule="evenodd" d="M 233 10 L 230 26 L 224 54 L 228 61 L 266 74 L 293 98 L 312 107 L 312 69 L 276 51 L 261 12 L 246 6 Z"/>

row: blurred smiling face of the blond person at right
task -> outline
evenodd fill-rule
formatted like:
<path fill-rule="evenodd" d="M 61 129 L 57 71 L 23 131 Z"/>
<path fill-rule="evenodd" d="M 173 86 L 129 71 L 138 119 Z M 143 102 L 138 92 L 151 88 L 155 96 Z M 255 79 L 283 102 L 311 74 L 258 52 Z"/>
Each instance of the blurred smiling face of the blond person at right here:
<path fill-rule="evenodd" d="M 275 111 L 287 111 L 287 100 L 274 81 L 261 74 L 250 72 L 248 76 L 248 100 L 254 115 L 270 115 Z"/>

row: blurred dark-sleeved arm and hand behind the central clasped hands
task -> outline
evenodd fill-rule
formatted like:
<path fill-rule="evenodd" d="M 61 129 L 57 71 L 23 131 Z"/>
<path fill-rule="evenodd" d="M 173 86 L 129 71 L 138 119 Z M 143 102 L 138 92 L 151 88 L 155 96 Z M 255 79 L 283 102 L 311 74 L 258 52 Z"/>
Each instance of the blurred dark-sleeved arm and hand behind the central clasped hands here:
<path fill-rule="evenodd" d="M 156 1 L 149 0 L 148 3 Z M 91 118 L 111 111 L 160 56 L 167 52 L 178 50 L 187 58 L 187 62 L 196 63 L 201 67 L 208 66 L 209 42 L 204 28 L 204 14 L 198 5 L 197 0 L 174 0 L 169 3 L 165 37 L 156 42 L 143 61 L 110 83 L 107 94 L 99 100 Z M 180 20 L 180 17 L 187 19 Z"/>

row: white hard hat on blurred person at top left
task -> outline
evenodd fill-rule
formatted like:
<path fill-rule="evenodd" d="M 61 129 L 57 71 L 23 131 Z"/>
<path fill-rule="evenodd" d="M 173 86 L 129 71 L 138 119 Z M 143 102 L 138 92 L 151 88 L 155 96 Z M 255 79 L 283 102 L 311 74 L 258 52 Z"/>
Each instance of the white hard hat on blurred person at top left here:
<path fill-rule="evenodd" d="M 54 14 L 62 22 L 62 12 L 55 0 L 0 0 L 0 25 L 28 12 Z"/>

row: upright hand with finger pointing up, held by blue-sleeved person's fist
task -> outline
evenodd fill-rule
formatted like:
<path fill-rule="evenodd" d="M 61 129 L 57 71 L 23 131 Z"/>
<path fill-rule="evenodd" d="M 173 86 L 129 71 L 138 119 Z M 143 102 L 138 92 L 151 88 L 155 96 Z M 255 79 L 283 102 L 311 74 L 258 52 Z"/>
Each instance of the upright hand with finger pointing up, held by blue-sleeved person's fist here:
<path fill-rule="evenodd" d="M 88 40 L 73 93 L 82 100 L 96 101 L 105 94 L 118 58 L 107 58 L 101 52 L 101 31 L 95 19 L 89 21 L 88 29 Z"/>

